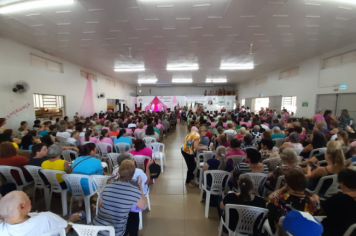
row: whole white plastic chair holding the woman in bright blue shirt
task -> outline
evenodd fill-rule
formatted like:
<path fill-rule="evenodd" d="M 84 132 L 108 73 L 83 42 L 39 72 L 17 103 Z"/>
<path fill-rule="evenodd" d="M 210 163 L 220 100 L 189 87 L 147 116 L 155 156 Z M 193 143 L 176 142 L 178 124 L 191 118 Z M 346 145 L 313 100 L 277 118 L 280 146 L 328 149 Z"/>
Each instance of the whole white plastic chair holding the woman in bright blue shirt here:
<path fill-rule="evenodd" d="M 93 189 L 93 184 L 95 183 L 93 179 L 88 175 L 79 175 L 79 174 L 64 174 L 62 178 L 67 183 L 68 188 L 71 189 L 72 197 L 70 198 L 69 214 L 72 214 L 72 205 L 73 200 L 84 200 L 85 213 L 87 218 L 87 224 L 91 222 L 91 209 L 90 209 L 90 197 L 93 196 L 96 192 Z M 89 186 L 89 195 L 85 196 L 82 185 L 80 181 L 82 179 L 88 180 Z"/>

